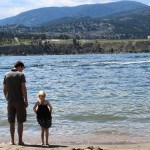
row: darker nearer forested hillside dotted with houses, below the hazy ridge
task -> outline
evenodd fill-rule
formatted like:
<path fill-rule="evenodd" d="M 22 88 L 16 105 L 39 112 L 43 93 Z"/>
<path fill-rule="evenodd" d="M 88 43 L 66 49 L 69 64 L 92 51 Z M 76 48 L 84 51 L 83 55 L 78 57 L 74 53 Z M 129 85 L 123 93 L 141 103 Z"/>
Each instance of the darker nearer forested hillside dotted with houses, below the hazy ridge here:
<path fill-rule="evenodd" d="M 0 38 L 8 36 L 24 39 L 146 39 L 150 36 L 150 7 L 103 17 L 63 17 L 33 27 L 0 26 Z"/>

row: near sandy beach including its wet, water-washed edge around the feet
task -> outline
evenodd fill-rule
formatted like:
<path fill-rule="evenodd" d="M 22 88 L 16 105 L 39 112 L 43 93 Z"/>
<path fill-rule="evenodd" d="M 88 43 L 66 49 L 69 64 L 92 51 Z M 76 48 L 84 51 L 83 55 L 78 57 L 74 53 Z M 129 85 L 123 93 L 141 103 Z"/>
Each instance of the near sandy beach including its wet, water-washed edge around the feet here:
<path fill-rule="evenodd" d="M 149 137 L 121 137 L 121 136 L 57 136 L 50 135 L 49 146 L 41 145 L 40 134 L 25 134 L 25 145 L 18 145 L 18 137 L 15 135 L 16 145 L 9 144 L 10 137 L 0 139 L 0 150 L 150 150 Z"/>

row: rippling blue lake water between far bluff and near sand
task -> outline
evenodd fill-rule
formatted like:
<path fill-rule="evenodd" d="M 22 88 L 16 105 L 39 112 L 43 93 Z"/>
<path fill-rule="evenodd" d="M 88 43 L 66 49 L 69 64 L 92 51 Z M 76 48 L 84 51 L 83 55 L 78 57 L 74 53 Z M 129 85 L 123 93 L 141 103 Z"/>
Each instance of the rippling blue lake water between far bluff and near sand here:
<path fill-rule="evenodd" d="M 17 60 L 26 66 L 27 143 L 40 142 L 39 90 L 53 106 L 52 143 L 150 142 L 150 54 L 88 54 L 0 57 L 0 143 L 10 140 L 3 76 Z"/>

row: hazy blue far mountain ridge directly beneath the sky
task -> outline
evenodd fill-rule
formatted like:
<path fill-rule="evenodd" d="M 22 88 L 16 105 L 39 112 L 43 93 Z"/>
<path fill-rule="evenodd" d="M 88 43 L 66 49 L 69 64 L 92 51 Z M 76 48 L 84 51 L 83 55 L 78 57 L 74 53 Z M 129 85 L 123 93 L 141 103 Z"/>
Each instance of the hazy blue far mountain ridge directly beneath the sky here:
<path fill-rule="evenodd" d="M 17 16 L 0 20 L 0 25 L 22 24 L 35 26 L 64 17 L 104 17 L 124 11 L 148 7 L 139 2 L 120 1 L 106 4 L 89 4 L 75 7 L 46 7 L 30 10 Z"/>

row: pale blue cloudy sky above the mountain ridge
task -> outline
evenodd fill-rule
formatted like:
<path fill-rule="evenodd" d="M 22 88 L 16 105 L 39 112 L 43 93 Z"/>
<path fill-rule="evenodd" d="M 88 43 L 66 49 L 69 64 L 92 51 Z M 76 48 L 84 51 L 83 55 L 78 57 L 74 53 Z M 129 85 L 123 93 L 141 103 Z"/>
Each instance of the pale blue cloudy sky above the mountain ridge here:
<path fill-rule="evenodd" d="M 0 0 L 0 20 L 42 7 L 78 6 L 82 4 L 101 4 L 117 1 L 120 0 Z M 132 1 L 141 2 L 150 6 L 150 0 Z"/>

